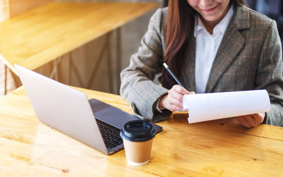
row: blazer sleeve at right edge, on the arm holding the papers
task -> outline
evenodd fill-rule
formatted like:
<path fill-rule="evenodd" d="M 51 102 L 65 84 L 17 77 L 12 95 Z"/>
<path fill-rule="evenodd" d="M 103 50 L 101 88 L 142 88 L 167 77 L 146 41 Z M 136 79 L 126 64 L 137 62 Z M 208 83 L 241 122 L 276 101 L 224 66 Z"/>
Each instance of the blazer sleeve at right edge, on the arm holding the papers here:
<path fill-rule="evenodd" d="M 262 45 L 255 89 L 266 89 L 270 96 L 271 110 L 264 122 L 283 126 L 283 79 L 282 46 L 275 21 L 270 23 L 265 42 Z"/>

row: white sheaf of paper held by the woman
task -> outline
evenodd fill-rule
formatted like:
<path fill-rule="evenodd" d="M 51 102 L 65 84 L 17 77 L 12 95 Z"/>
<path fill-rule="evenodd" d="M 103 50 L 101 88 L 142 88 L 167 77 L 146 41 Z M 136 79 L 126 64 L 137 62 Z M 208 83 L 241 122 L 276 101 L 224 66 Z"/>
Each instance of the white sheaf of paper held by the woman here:
<path fill-rule="evenodd" d="M 270 111 L 266 90 L 190 94 L 183 97 L 190 123 Z"/>

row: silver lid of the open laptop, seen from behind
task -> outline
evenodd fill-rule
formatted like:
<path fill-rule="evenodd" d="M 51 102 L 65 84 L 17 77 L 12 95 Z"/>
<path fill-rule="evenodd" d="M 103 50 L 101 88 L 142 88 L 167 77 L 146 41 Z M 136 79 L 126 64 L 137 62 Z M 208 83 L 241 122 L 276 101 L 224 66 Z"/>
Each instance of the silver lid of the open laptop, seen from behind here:
<path fill-rule="evenodd" d="M 17 64 L 15 67 L 40 122 L 108 154 L 84 93 Z"/>

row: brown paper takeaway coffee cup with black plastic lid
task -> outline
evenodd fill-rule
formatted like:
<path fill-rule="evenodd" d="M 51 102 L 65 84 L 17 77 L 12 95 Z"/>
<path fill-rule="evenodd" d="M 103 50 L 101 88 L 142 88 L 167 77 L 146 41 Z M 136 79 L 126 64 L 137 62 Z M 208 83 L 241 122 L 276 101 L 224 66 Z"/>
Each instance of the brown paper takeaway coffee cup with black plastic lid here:
<path fill-rule="evenodd" d="M 155 134 L 152 125 L 144 120 L 132 120 L 124 125 L 120 136 L 124 142 L 129 165 L 139 166 L 149 162 Z"/>

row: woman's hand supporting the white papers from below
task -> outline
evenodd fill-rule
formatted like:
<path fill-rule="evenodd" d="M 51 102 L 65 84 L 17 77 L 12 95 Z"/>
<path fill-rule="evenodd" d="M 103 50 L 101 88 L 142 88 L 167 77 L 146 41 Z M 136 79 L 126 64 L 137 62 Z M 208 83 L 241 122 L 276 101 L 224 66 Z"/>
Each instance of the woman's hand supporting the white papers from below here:
<path fill-rule="evenodd" d="M 238 122 L 241 125 L 247 128 L 256 127 L 260 125 L 264 119 L 265 119 L 265 113 L 242 115 L 242 116 L 236 117 L 236 120 L 238 120 Z"/>

